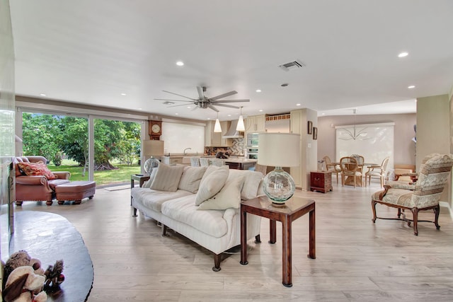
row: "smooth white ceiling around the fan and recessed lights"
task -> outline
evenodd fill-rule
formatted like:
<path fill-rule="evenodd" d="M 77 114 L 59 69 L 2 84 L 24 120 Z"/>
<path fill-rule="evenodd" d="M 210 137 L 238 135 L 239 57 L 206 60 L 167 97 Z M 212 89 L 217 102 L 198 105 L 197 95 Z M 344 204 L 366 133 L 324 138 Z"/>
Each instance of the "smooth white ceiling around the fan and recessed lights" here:
<path fill-rule="evenodd" d="M 208 97 L 235 90 L 229 99 L 250 99 L 232 104 L 243 105 L 243 115 L 297 108 L 378 114 L 415 112 L 415 98 L 447 94 L 453 84 L 451 0 L 13 0 L 10 6 L 18 95 L 205 120 L 216 112 L 167 108 L 154 98 L 178 99 L 164 90 L 197 98 L 196 86 L 207 86 Z M 403 51 L 408 56 L 398 58 Z M 297 59 L 306 66 L 279 68 Z M 178 60 L 185 65 L 176 66 Z M 239 115 L 218 109 L 220 120 Z"/>

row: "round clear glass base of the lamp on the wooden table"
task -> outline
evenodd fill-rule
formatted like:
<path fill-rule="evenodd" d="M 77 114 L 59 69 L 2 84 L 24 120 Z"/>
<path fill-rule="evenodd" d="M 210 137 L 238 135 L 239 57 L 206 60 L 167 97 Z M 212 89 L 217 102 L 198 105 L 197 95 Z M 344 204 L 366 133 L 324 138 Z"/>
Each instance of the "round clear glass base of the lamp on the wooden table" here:
<path fill-rule="evenodd" d="M 294 194 L 296 185 L 289 173 L 282 167 L 275 167 L 275 170 L 265 175 L 263 190 L 273 203 L 284 204 Z"/>

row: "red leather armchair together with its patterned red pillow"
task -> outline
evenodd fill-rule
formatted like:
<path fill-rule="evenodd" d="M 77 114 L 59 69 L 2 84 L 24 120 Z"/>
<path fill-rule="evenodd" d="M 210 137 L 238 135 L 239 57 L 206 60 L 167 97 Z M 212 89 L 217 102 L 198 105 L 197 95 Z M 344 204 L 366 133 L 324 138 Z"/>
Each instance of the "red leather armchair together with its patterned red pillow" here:
<path fill-rule="evenodd" d="M 55 199 L 55 187 L 69 182 L 71 173 L 52 172 L 47 168 L 43 156 L 21 156 L 13 158 L 16 169 L 16 204 L 25 201 L 43 201 L 47 205 Z"/>

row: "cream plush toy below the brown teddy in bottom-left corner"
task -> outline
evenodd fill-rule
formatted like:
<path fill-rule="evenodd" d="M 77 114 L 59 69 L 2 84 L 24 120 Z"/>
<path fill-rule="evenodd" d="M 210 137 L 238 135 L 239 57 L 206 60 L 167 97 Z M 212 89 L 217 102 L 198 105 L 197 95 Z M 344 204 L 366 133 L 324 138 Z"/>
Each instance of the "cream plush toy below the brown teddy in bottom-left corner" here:
<path fill-rule="evenodd" d="M 35 274 L 33 267 L 25 265 L 11 272 L 6 281 L 3 298 L 6 302 L 45 302 L 47 294 L 42 291 L 45 276 Z"/>

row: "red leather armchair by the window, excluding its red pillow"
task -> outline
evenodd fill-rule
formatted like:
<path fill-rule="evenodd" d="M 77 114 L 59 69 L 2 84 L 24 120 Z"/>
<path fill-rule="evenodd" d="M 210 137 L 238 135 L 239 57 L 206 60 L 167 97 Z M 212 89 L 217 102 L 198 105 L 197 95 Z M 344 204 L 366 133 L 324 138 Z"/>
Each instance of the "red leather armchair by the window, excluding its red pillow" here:
<path fill-rule="evenodd" d="M 16 170 L 15 188 L 16 204 L 21 206 L 25 201 L 45 201 L 47 205 L 52 204 L 55 199 L 55 187 L 69 182 L 71 173 L 67 171 L 52 172 L 54 180 L 48 180 L 44 175 L 23 175 L 17 163 L 47 163 L 44 156 L 21 156 L 13 158 L 14 169 Z"/>

